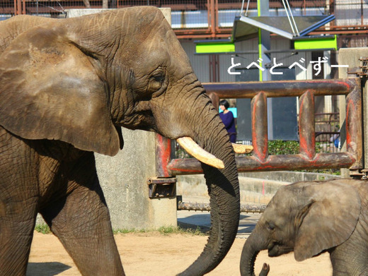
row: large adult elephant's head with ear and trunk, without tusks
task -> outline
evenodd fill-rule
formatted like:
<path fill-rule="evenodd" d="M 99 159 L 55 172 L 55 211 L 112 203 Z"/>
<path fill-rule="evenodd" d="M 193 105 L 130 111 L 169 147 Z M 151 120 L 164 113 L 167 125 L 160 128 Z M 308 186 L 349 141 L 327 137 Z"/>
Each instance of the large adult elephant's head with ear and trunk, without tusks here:
<path fill-rule="evenodd" d="M 21 138 L 115 155 L 122 126 L 190 137 L 222 160 L 223 169 L 202 164 L 212 230 L 182 275 L 203 275 L 220 263 L 238 227 L 234 150 L 159 9 L 124 8 L 29 28 L 1 54 L 0 82 L 0 124 Z"/>

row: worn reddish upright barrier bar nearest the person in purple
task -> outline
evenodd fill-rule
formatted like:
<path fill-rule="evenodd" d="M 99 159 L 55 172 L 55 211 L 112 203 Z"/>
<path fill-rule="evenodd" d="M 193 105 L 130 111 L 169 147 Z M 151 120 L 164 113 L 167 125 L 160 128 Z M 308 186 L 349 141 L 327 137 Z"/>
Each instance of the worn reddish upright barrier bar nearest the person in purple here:
<path fill-rule="evenodd" d="M 251 112 L 253 155 L 260 162 L 265 162 L 268 157 L 267 97 L 265 92 L 259 92 L 253 97 Z"/>

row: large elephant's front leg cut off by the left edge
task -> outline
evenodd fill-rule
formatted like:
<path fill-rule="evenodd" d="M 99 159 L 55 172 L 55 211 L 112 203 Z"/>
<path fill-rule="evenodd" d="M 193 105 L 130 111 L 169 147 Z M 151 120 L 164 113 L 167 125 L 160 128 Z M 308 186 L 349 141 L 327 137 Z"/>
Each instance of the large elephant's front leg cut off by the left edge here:
<path fill-rule="evenodd" d="M 23 276 L 38 208 L 32 158 L 21 140 L 0 126 L 0 275 Z M 18 152 L 27 152 L 20 158 Z"/>

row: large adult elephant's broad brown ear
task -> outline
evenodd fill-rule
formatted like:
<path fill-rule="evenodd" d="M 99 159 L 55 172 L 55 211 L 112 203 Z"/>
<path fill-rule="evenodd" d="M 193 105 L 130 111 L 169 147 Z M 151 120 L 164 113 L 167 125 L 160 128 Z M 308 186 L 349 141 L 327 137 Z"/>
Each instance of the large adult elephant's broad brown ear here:
<path fill-rule="evenodd" d="M 23 32 L 1 55 L 0 124 L 22 138 L 115 155 L 122 141 L 99 61 L 53 26 Z"/>

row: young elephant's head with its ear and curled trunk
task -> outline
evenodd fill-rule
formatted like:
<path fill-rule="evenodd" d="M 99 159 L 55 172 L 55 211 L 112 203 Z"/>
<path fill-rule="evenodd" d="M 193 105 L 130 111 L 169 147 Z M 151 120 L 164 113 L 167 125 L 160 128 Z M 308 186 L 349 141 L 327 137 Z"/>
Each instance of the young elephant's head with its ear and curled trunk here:
<path fill-rule="evenodd" d="M 361 201 L 348 181 L 299 182 L 280 188 L 246 240 L 241 253 L 241 275 L 255 275 L 261 250 L 275 257 L 294 251 L 306 260 L 343 244 L 355 231 Z"/>

